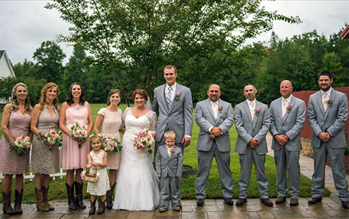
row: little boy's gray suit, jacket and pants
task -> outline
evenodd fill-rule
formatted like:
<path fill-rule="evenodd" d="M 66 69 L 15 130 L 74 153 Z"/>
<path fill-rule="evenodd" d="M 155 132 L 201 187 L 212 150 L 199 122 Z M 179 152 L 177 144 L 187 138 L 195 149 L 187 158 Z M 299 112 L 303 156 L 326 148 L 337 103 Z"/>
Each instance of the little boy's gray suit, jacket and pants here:
<path fill-rule="evenodd" d="M 174 152 L 168 156 L 168 148 L 161 145 L 156 151 L 156 174 L 160 177 L 160 209 L 168 210 L 171 192 L 172 209 L 179 207 L 178 183 L 181 180 L 183 156 L 179 146 L 173 146 Z M 179 176 L 179 177 L 176 177 Z"/>

